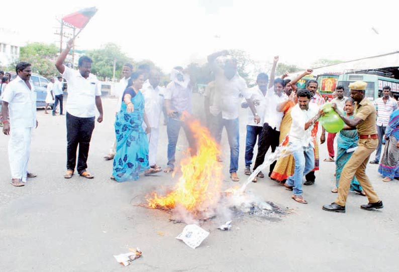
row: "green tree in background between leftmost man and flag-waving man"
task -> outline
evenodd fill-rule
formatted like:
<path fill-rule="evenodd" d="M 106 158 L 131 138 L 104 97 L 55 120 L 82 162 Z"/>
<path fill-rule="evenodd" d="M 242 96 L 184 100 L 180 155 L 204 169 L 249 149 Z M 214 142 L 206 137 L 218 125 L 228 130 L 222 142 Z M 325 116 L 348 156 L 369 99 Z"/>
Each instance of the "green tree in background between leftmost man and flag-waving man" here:
<path fill-rule="evenodd" d="M 58 48 L 53 44 L 30 43 L 21 47 L 19 61 L 26 61 L 32 64 L 32 72 L 44 77 L 55 76 L 58 72 L 54 66 Z M 9 69 L 14 71 L 17 62 Z"/>

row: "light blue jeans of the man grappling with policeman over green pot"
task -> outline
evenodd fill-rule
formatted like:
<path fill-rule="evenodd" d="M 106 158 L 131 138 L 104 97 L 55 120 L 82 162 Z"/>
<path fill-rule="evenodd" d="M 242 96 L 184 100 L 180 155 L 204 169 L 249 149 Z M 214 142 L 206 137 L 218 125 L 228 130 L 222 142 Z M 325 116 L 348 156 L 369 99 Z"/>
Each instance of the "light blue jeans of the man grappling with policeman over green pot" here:
<path fill-rule="evenodd" d="M 291 145 L 291 143 L 290 143 Z M 302 195 L 302 179 L 306 174 L 315 168 L 315 153 L 313 147 L 302 147 L 293 153 L 295 159 L 295 170 L 291 177 L 286 181 L 288 186 L 293 186 L 294 195 Z"/>

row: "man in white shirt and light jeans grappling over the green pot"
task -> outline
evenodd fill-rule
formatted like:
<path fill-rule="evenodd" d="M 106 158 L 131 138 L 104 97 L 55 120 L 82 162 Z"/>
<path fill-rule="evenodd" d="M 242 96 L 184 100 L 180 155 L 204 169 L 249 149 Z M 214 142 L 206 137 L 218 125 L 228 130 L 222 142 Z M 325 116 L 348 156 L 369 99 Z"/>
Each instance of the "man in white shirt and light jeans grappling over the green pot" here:
<path fill-rule="evenodd" d="M 292 124 L 288 133 L 289 144 L 295 150 L 294 174 L 287 179 L 284 186 L 293 190 L 291 198 L 299 203 L 308 202 L 302 196 L 302 179 L 315 167 L 315 154 L 313 151 L 312 128 L 322 112 L 310 102 L 311 93 L 309 90 L 301 89 L 296 93 L 298 103 L 292 108 Z"/>

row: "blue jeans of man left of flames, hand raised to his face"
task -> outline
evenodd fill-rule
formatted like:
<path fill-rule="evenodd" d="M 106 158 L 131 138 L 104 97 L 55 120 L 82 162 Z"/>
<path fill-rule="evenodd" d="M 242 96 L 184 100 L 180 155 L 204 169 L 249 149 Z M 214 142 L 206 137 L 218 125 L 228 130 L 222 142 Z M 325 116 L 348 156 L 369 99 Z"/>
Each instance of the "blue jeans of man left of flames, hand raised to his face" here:
<path fill-rule="evenodd" d="M 168 134 L 168 167 L 170 167 L 171 169 L 174 169 L 174 163 L 176 162 L 176 144 L 179 138 L 180 127 L 183 127 L 185 137 L 187 138 L 188 146 L 190 148 L 191 156 L 196 154 L 195 141 L 192 137 L 192 133 L 189 127 L 180 120 L 168 118 L 168 123 L 166 126 L 166 132 Z"/>

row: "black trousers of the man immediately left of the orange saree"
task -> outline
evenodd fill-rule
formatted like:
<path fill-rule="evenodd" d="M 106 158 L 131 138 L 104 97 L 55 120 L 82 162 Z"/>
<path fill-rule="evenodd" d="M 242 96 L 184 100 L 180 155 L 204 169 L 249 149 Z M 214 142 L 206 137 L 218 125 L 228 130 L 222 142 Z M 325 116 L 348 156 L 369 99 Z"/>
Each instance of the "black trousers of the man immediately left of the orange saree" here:
<path fill-rule="evenodd" d="M 271 152 L 274 152 L 276 150 L 276 147 L 278 147 L 279 138 L 280 138 L 280 131 L 277 131 L 275 128 L 272 128 L 268 123 L 263 124 L 262 133 L 260 134 L 260 139 L 258 141 L 258 154 L 256 155 L 254 170 L 258 166 L 263 164 L 263 162 L 265 161 L 265 155 L 269 150 L 269 148 L 271 148 Z M 276 161 L 274 161 L 270 165 L 269 177 L 273 172 L 275 165 Z"/>

